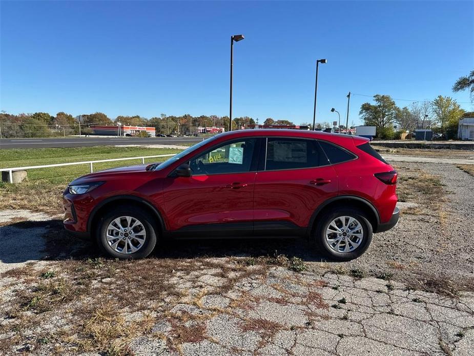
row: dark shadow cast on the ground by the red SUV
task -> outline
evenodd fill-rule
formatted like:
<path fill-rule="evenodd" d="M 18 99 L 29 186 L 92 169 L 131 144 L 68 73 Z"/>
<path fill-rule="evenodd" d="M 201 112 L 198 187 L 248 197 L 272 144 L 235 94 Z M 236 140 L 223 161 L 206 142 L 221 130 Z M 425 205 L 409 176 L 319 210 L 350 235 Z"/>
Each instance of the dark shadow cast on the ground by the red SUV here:
<path fill-rule="evenodd" d="M 0 262 L 107 257 L 92 240 L 68 234 L 60 220 L 20 221 L 2 226 Z M 190 239 L 157 244 L 150 255 L 163 259 L 267 257 L 286 255 L 307 262 L 331 262 L 305 239 Z"/>

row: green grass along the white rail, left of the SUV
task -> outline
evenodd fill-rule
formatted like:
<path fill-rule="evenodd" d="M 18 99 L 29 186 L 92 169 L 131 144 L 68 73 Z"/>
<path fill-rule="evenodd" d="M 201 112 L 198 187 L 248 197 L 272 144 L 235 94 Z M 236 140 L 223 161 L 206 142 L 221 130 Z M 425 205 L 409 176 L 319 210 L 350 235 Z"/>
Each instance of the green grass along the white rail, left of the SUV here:
<path fill-rule="evenodd" d="M 0 168 L 41 166 L 56 163 L 98 161 L 116 158 L 178 153 L 179 149 L 143 147 L 27 148 L 0 150 Z M 145 163 L 165 161 L 167 157 L 146 159 Z M 94 171 L 141 164 L 141 159 L 94 164 Z M 90 172 L 89 164 L 28 170 L 28 181 L 46 180 L 51 184 L 68 183 Z"/>

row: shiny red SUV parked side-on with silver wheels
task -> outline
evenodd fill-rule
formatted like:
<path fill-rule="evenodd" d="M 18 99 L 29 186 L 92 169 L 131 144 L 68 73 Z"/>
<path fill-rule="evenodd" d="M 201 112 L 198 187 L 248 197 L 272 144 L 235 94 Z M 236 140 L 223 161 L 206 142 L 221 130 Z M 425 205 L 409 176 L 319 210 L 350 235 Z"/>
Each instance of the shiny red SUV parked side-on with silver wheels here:
<path fill-rule="evenodd" d="M 71 182 L 64 225 L 116 258 L 167 238 L 304 236 L 351 260 L 398 222 L 397 172 L 368 140 L 314 131 L 226 132 L 168 161 Z"/>

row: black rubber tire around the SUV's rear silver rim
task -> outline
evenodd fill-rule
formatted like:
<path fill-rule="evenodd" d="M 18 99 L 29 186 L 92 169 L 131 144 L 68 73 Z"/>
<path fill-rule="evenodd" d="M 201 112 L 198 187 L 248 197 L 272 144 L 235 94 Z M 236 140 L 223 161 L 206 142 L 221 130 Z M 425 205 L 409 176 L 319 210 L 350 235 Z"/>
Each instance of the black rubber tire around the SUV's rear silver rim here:
<path fill-rule="evenodd" d="M 331 222 L 339 216 L 354 217 L 360 223 L 363 229 L 362 241 L 356 248 L 354 248 L 354 250 L 349 252 L 336 251 L 335 249 L 331 248 L 328 241 L 326 240 L 326 230 L 329 227 L 329 224 L 331 224 Z M 314 239 L 316 246 L 329 258 L 337 261 L 351 261 L 358 258 L 367 250 L 370 242 L 372 242 L 372 234 L 372 224 L 369 223 L 366 215 L 362 211 L 352 208 L 336 208 L 332 211 L 323 213 L 323 215 L 317 218 Z M 330 236 L 332 235 L 330 234 Z M 346 243 L 343 242 L 343 244 Z M 349 244 L 349 246 L 352 245 Z"/>

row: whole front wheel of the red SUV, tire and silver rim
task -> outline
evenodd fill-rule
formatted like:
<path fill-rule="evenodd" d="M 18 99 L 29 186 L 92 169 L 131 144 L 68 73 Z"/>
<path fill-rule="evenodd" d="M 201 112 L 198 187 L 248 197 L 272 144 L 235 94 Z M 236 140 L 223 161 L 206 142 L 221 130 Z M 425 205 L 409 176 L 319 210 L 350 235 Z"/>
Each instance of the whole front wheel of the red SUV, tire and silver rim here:
<path fill-rule="evenodd" d="M 156 245 L 153 218 L 141 209 L 116 208 L 99 221 L 98 228 L 98 245 L 115 258 L 145 258 Z"/>

